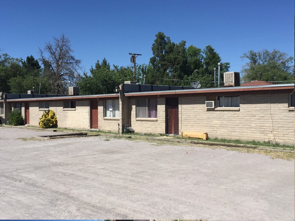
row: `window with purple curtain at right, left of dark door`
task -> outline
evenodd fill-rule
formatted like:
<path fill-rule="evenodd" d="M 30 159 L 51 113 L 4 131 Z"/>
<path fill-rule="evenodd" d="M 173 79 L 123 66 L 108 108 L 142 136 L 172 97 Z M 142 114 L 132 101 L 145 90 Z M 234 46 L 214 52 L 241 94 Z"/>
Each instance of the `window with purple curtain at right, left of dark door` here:
<path fill-rule="evenodd" d="M 157 98 L 137 99 L 136 118 L 157 118 Z"/>

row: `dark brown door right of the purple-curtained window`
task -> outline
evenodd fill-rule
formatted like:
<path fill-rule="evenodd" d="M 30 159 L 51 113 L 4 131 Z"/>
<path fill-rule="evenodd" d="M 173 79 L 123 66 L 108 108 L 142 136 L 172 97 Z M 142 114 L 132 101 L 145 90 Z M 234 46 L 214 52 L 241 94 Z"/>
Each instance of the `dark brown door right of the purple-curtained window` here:
<path fill-rule="evenodd" d="M 178 98 L 166 98 L 166 134 L 179 134 Z"/>

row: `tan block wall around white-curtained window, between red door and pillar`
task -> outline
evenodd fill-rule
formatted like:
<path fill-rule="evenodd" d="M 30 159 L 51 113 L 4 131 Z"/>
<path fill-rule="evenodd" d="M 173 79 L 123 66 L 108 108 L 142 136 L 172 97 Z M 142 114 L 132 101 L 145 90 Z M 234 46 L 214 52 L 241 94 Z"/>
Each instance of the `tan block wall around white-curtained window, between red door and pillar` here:
<path fill-rule="evenodd" d="M 98 129 L 102 131 L 118 133 L 118 123 L 120 123 L 120 130 L 121 130 L 121 119 L 120 118 L 104 118 L 103 117 L 104 103 L 105 103 L 104 100 L 98 101 Z M 121 107 L 119 108 L 121 113 Z"/>

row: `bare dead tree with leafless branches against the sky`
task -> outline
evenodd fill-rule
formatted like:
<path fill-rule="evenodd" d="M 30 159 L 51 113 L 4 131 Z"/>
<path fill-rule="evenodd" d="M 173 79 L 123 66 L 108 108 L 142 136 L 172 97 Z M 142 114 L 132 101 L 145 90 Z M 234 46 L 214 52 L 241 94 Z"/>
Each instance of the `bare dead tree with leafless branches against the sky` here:
<path fill-rule="evenodd" d="M 73 52 L 70 40 L 64 34 L 59 38 L 53 37 L 53 43 L 45 43 L 44 50 L 39 48 L 43 74 L 50 79 L 53 93 L 65 93 L 68 83 L 76 85 L 81 77 L 81 60 L 76 59 Z"/>

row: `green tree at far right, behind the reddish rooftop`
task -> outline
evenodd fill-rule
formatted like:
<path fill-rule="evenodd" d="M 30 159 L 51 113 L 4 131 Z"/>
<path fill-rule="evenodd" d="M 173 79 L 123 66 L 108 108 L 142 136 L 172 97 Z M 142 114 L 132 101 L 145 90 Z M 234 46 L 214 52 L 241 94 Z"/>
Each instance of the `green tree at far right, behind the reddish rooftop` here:
<path fill-rule="evenodd" d="M 294 58 L 277 49 L 244 53 L 242 60 L 249 62 L 242 69 L 242 81 L 261 80 L 266 82 L 290 83 L 294 82 Z"/>

